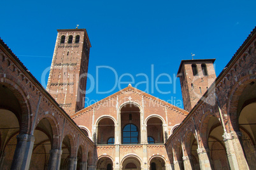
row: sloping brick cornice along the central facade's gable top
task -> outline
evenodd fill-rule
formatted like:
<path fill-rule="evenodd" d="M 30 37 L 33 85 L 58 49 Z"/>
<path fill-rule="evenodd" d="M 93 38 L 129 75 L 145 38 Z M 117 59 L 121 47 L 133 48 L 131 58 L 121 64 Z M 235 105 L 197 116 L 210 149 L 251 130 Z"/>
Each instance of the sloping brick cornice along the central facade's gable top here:
<path fill-rule="evenodd" d="M 90 109 L 92 109 L 92 108 L 95 108 L 95 107 L 97 107 L 98 105 L 100 105 L 101 103 L 104 103 L 105 101 L 110 100 L 111 98 L 115 98 L 116 96 L 118 96 L 118 95 L 124 93 L 125 91 L 129 91 L 129 90 L 135 91 L 135 92 L 137 92 L 137 93 L 140 93 L 140 94 L 143 95 L 143 96 L 146 96 L 146 97 L 148 97 L 148 98 L 151 98 L 152 100 L 155 100 L 155 101 L 157 101 L 157 102 L 160 102 L 160 103 L 162 103 L 162 105 L 166 105 L 167 107 L 174 108 L 175 110 L 178 110 L 178 111 L 181 112 L 182 114 L 185 114 L 185 115 L 188 114 L 188 112 L 187 112 L 186 110 L 183 110 L 182 108 L 176 107 L 176 106 L 172 105 L 171 103 L 168 103 L 168 102 L 166 102 L 166 101 L 164 101 L 164 100 L 160 100 L 159 98 L 157 98 L 157 97 L 155 97 L 155 96 L 152 96 L 152 95 L 150 95 L 150 94 L 148 94 L 148 93 L 145 93 L 144 91 L 141 91 L 141 90 L 139 90 L 139 89 L 137 89 L 137 88 L 134 88 L 134 87 L 132 87 L 132 86 L 128 86 L 127 88 L 124 88 L 124 89 L 121 89 L 120 91 L 117 91 L 117 93 L 114 93 L 113 95 L 110 95 L 110 96 L 108 96 L 108 97 L 106 97 L 106 98 L 103 98 L 103 100 L 97 101 L 96 103 L 90 105 L 89 107 L 83 108 L 82 110 L 76 112 L 75 114 L 71 115 L 70 117 L 71 117 L 71 118 L 76 117 L 76 116 L 82 114 L 83 112 L 86 112 L 87 110 L 90 110 Z"/>

